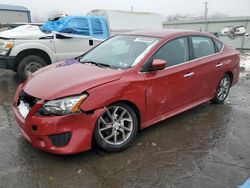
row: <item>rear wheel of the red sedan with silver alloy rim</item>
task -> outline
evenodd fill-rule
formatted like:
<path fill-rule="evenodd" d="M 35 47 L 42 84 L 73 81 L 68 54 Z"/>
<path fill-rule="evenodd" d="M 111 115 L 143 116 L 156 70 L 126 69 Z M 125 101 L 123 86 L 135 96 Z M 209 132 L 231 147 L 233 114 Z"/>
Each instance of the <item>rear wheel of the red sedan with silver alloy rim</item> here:
<path fill-rule="evenodd" d="M 228 74 L 224 74 L 220 79 L 216 88 L 215 97 L 211 100 L 213 104 L 221 104 L 228 96 L 231 87 L 231 78 Z"/>

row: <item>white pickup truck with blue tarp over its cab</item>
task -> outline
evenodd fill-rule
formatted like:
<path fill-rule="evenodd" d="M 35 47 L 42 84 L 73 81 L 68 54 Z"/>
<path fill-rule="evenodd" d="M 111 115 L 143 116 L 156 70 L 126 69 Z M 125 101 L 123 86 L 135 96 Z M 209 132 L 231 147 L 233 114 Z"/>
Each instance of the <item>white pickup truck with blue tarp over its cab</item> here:
<path fill-rule="evenodd" d="M 42 26 L 23 25 L 3 31 L 0 67 L 17 72 L 25 80 L 43 66 L 86 52 L 107 39 L 107 32 L 105 20 L 95 16 L 71 16 Z"/>

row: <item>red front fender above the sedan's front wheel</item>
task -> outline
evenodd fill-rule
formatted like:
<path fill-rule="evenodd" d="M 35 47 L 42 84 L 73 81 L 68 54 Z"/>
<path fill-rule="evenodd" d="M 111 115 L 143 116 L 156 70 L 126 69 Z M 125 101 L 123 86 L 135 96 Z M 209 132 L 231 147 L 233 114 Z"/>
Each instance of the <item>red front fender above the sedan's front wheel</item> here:
<path fill-rule="evenodd" d="M 145 81 L 143 77 L 137 81 L 117 80 L 95 87 L 87 92 L 89 96 L 81 105 L 83 111 L 104 108 L 118 101 L 128 101 L 138 108 L 141 123 L 146 121 Z"/>

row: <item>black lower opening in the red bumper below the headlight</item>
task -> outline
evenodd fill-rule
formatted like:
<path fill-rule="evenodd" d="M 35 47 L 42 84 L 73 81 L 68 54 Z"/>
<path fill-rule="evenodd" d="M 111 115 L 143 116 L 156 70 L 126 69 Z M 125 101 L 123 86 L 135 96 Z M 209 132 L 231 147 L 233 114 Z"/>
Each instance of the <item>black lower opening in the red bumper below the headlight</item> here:
<path fill-rule="evenodd" d="M 71 139 L 71 133 L 54 134 L 49 136 L 50 141 L 56 147 L 63 147 L 67 145 Z"/>

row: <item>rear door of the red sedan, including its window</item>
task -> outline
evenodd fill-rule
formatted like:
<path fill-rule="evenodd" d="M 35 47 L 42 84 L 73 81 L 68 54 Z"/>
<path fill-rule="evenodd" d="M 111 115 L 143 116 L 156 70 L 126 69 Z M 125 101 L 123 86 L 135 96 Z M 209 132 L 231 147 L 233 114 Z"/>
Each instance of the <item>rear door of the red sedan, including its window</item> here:
<path fill-rule="evenodd" d="M 223 61 L 212 38 L 191 36 L 194 76 L 194 102 L 213 97 L 223 72 Z"/>

